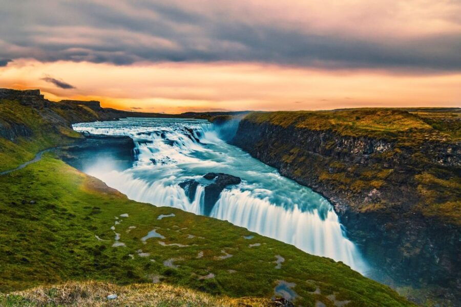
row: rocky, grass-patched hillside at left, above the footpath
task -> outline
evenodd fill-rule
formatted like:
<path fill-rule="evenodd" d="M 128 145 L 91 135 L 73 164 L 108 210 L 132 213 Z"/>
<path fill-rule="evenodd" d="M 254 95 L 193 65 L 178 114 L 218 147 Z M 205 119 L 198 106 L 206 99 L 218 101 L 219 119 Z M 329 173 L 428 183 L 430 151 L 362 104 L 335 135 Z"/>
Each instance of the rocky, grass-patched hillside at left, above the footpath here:
<path fill-rule="evenodd" d="M 80 142 L 82 136 L 72 129 L 74 123 L 117 120 L 128 116 L 176 115 L 132 113 L 103 108 L 99 101 L 55 102 L 45 99 L 39 90 L 0 89 L 0 170 L 12 169 L 32 159 L 35 153 L 45 148 Z M 93 144 L 95 141 L 104 147 L 114 140 L 91 139 L 86 143 Z M 83 146 L 81 142 L 79 144 L 73 149 Z M 125 147 L 130 147 L 130 144 Z M 69 159 L 75 155 L 75 150 L 66 153 Z M 127 154 L 123 153 L 121 165 L 127 165 L 129 160 Z"/>

